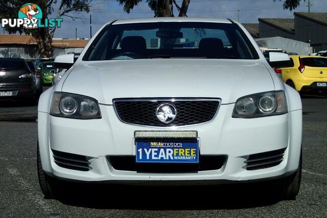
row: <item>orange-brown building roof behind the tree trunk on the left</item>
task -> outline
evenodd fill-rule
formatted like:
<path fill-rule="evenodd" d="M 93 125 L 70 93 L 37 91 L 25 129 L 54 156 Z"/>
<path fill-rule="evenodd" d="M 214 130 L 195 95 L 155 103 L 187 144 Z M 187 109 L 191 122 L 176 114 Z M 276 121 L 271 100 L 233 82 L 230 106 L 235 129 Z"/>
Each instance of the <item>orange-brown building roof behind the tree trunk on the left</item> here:
<path fill-rule="evenodd" d="M 88 39 L 53 39 L 54 47 L 85 47 Z M 36 40 L 31 35 L 0 35 L 0 45 L 33 45 L 37 44 Z"/>

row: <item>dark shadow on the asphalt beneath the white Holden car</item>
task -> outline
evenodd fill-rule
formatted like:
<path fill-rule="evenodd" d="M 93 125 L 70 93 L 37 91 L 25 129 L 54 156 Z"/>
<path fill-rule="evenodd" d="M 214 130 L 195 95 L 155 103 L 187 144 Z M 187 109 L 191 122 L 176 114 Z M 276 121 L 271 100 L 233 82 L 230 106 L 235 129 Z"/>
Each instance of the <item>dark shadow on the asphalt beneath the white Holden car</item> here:
<path fill-rule="evenodd" d="M 59 201 L 95 209 L 207 210 L 243 209 L 276 204 L 255 184 L 219 186 L 130 186 L 78 184 Z"/>

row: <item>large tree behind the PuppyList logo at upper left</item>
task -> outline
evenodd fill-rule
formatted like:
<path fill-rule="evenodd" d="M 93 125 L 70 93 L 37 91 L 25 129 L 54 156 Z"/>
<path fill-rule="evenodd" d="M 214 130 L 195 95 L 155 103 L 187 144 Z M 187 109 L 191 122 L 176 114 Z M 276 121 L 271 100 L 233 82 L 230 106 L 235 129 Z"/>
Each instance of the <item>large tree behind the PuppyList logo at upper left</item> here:
<path fill-rule="evenodd" d="M 42 23 L 45 23 L 45 19 L 49 18 L 61 18 L 63 16 L 76 19 L 78 17 L 68 15 L 69 12 L 79 13 L 82 11 L 90 11 L 90 3 L 92 0 L 34 0 L 34 4 L 38 5 L 42 11 Z M 57 4 L 58 3 L 58 4 Z M 0 1 L 0 19 L 16 19 L 18 18 L 18 11 L 21 6 L 26 4 L 26 0 L 6 0 Z M 59 6 L 58 10 L 55 13 L 55 16 L 51 16 L 54 12 L 54 6 Z M 5 26 L 5 30 L 9 34 L 14 33 L 25 33 L 27 35 L 32 35 L 38 45 L 38 53 L 40 57 L 52 57 L 53 48 L 52 48 L 52 38 L 57 29 L 57 25 L 52 28 L 37 28 L 37 29 L 25 29 L 20 26 L 9 27 Z"/>

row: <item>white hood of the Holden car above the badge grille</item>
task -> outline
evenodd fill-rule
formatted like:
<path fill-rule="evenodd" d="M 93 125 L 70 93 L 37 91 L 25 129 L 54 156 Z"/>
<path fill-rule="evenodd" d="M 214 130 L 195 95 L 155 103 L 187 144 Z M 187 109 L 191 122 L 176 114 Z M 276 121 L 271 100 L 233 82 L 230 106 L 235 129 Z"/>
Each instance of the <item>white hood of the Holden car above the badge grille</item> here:
<path fill-rule="evenodd" d="M 115 98 L 220 98 L 274 90 L 260 60 L 142 59 L 87 61 L 67 76 L 63 92 L 90 96 L 102 104 Z"/>

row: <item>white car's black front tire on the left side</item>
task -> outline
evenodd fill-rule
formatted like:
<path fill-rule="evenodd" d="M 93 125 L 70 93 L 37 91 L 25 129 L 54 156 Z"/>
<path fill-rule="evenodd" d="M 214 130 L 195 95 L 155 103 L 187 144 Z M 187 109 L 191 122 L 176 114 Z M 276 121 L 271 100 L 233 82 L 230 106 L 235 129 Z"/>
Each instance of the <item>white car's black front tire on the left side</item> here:
<path fill-rule="evenodd" d="M 41 156 L 39 151 L 39 143 L 37 143 L 37 176 L 43 195 L 47 199 L 56 199 L 61 195 L 59 189 L 59 181 L 56 178 L 46 175 L 42 168 Z"/>

